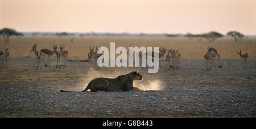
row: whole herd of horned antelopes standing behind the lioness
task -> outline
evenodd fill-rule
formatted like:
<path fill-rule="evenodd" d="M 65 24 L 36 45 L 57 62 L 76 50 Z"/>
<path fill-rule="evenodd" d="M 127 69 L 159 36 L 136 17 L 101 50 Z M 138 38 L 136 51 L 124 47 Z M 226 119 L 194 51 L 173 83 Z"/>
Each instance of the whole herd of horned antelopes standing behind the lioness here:
<path fill-rule="evenodd" d="M 44 66 L 51 66 L 51 56 L 53 54 L 56 54 L 57 57 L 57 63 L 56 63 L 56 68 L 60 68 L 60 66 L 67 66 L 67 58 L 68 58 L 68 50 L 64 49 L 64 45 L 60 45 L 59 49 L 57 50 L 57 45 L 53 45 L 53 50 L 48 50 L 48 49 L 41 49 L 41 50 L 36 50 L 36 44 L 32 46 L 32 51 L 35 53 L 36 57 L 36 69 L 40 68 L 40 61 L 42 60 L 44 62 Z M 94 46 L 89 46 L 89 53 L 88 53 L 88 60 L 87 61 L 92 61 L 93 66 L 97 68 L 97 58 L 100 57 L 102 54 L 98 54 L 97 51 L 100 48 L 100 46 L 96 46 L 94 49 Z M 127 51 L 127 54 L 129 53 L 130 49 Z M 159 48 L 159 59 L 162 58 L 167 51 L 166 59 L 164 61 L 167 62 L 167 67 L 171 67 L 174 70 L 177 68 L 180 68 L 180 53 L 179 50 L 172 50 L 172 49 L 165 49 L 165 48 Z M 240 57 L 243 59 L 243 68 L 247 68 L 247 58 L 249 55 L 247 52 L 242 54 L 241 50 L 237 51 L 237 53 L 240 55 Z M 44 55 L 48 55 L 48 64 L 44 61 Z M 146 53 L 147 56 L 154 57 L 154 53 L 148 54 Z M 142 52 L 139 52 L 139 57 L 142 59 Z M 220 60 L 220 54 L 218 54 L 217 50 L 208 46 L 207 52 L 204 55 L 204 60 L 205 60 L 205 66 L 206 70 L 211 70 L 213 61 L 214 59 Z M 9 61 L 9 48 L 5 48 L 5 50 L 0 50 L 0 59 L 2 61 L 1 63 L 1 68 L 5 64 L 6 68 L 9 68 L 8 66 L 8 61 Z M 152 58 L 154 59 L 154 58 Z M 60 65 L 60 62 L 62 65 Z M 160 60 L 159 60 L 159 66 L 161 66 Z"/>

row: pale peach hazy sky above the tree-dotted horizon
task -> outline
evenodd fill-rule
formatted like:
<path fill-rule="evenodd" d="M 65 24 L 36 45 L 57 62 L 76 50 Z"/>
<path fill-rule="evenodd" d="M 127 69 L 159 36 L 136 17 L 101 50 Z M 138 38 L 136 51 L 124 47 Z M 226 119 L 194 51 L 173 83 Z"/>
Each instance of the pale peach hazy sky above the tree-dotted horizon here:
<path fill-rule="evenodd" d="M 0 0 L 0 28 L 22 32 L 256 35 L 256 0 Z"/>

